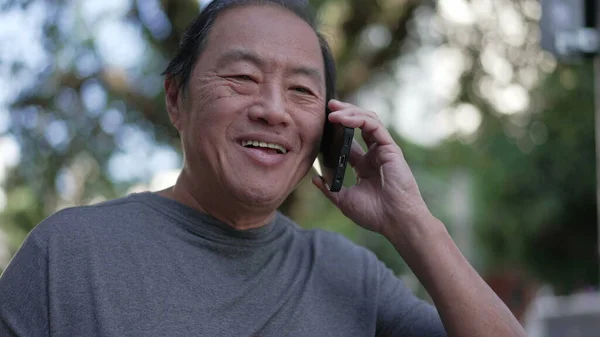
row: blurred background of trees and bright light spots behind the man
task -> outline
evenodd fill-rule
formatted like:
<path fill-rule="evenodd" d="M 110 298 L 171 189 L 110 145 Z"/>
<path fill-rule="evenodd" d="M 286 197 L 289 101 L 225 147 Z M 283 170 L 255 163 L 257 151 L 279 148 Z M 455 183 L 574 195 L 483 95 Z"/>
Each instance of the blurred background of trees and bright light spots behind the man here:
<path fill-rule="evenodd" d="M 0 0 L 0 272 L 59 209 L 172 184 L 162 77 L 198 0 Z M 594 76 L 540 47 L 538 0 L 314 0 L 339 97 L 376 111 L 432 210 L 523 321 L 540 292 L 597 290 Z M 348 183 L 352 183 L 348 177 Z M 306 179 L 281 211 L 393 247 Z"/>

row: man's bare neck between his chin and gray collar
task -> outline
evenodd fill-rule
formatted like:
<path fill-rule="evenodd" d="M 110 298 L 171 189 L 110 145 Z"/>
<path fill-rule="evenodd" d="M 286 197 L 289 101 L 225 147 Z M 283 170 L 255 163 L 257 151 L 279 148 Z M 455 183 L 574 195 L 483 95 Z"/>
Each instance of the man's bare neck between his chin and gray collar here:
<path fill-rule="evenodd" d="M 275 210 L 252 209 L 239 202 L 225 200 L 223 194 L 210 193 L 209 190 L 212 189 L 195 186 L 182 172 L 174 186 L 157 194 L 208 214 L 237 230 L 262 227 L 275 217 Z"/>

